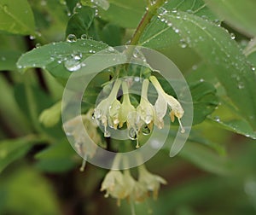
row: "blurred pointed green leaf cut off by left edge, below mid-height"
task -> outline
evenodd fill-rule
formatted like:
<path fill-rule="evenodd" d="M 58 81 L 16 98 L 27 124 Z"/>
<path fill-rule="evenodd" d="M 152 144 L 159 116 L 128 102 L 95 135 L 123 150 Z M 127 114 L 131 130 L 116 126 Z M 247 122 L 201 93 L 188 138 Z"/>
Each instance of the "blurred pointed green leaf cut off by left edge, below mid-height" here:
<path fill-rule="evenodd" d="M 14 140 L 3 140 L 0 142 L 0 173 L 9 164 L 22 158 L 30 148 L 35 144 L 32 137 L 20 138 Z"/>

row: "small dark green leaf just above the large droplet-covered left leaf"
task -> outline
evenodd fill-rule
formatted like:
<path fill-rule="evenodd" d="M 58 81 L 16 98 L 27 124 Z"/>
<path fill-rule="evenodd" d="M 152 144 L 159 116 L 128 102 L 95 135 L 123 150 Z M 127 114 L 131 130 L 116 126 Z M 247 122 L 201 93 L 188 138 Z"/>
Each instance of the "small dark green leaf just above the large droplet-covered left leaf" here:
<path fill-rule="evenodd" d="M 68 20 L 66 36 L 68 34 L 75 34 L 77 38 L 80 38 L 83 34 L 88 35 L 94 18 L 95 9 L 91 9 L 90 7 L 76 9 L 76 12 Z"/>

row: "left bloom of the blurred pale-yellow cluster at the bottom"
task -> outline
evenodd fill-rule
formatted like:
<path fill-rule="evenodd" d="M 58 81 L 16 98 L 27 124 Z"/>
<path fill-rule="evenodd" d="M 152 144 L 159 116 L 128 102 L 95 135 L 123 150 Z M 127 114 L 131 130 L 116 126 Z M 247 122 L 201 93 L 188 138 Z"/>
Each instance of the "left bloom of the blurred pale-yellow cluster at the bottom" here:
<path fill-rule="evenodd" d="M 135 183 L 129 170 L 125 170 L 124 174 L 121 171 L 111 170 L 104 178 L 101 191 L 106 190 L 105 197 L 110 195 L 117 199 L 119 206 L 120 200 L 128 198 L 131 195 Z"/>

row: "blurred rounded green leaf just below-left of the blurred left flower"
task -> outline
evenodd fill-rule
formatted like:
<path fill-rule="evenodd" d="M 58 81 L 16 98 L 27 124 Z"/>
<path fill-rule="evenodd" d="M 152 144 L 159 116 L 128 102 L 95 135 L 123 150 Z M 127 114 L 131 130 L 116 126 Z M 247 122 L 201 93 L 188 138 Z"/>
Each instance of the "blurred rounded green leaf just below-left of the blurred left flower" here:
<path fill-rule="evenodd" d="M 58 142 L 36 154 L 37 167 L 48 172 L 71 170 L 75 165 L 75 152 L 69 142 Z"/>

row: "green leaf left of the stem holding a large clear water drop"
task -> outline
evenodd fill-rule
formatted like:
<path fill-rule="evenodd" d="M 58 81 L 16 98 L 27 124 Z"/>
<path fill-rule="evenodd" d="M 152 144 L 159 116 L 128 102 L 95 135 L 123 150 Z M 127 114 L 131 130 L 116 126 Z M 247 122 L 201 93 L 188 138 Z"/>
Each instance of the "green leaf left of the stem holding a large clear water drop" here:
<path fill-rule="evenodd" d="M 107 44 L 90 39 L 46 44 L 21 55 L 17 67 L 23 73 L 31 67 L 44 68 L 65 83 L 70 72 L 82 67 L 85 58 L 107 48 Z"/>

